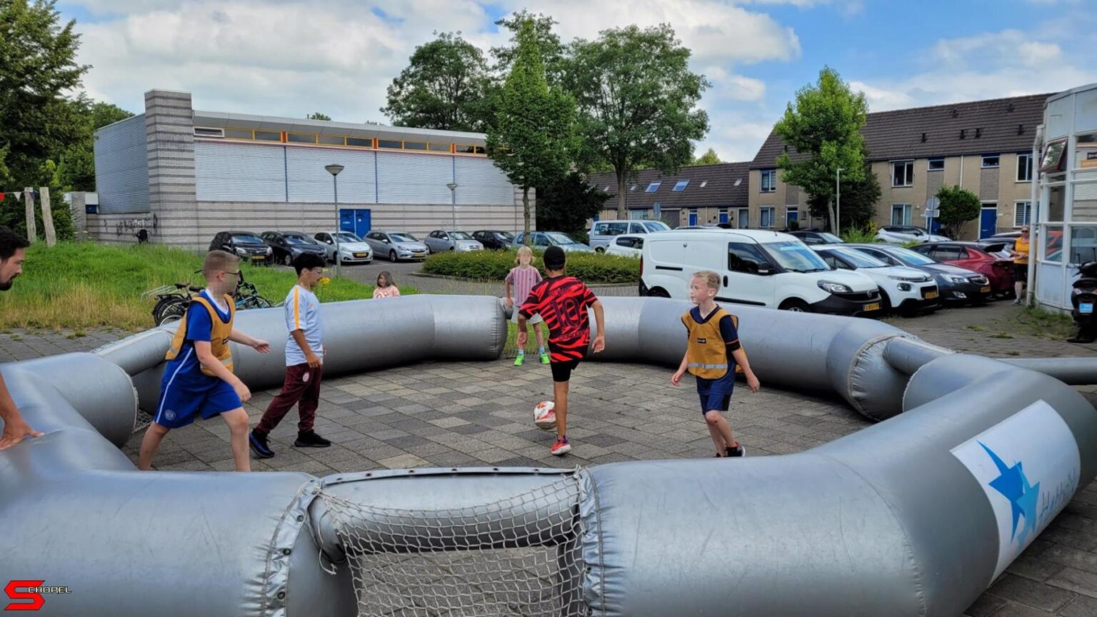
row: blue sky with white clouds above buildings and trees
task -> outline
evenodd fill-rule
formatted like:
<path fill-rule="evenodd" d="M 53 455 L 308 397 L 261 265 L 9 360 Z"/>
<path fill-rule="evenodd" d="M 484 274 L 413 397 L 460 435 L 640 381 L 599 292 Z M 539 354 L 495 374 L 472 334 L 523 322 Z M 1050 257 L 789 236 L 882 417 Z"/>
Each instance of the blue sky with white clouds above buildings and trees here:
<path fill-rule="evenodd" d="M 144 92 L 195 109 L 386 122 L 385 88 L 434 31 L 485 51 L 528 9 L 564 41 L 669 23 L 712 81 L 698 152 L 749 160 L 795 91 L 829 65 L 870 111 L 1065 90 L 1097 81 L 1094 0 L 61 0 L 94 99 Z"/>

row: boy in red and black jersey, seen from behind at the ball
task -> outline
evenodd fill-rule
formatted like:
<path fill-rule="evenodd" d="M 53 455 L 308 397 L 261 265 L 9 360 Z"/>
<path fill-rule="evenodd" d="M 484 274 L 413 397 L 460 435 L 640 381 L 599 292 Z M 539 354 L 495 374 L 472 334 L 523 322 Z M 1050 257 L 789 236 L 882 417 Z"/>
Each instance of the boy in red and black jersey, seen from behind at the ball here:
<path fill-rule="evenodd" d="M 548 247 L 544 265 L 547 278 L 533 285 L 530 298 L 519 308 L 518 347 L 523 349 L 525 346 L 525 321 L 533 315 L 541 315 L 550 333 L 548 351 L 556 412 L 556 442 L 552 447 L 552 453 L 562 456 L 572 451 L 572 445 L 567 441 L 568 380 L 590 347 L 590 318 L 587 316 L 587 308 L 593 307 L 598 325 L 595 354 L 606 348 L 606 319 L 602 303 L 593 292 L 579 279 L 564 276 L 564 249 L 558 246 Z"/>

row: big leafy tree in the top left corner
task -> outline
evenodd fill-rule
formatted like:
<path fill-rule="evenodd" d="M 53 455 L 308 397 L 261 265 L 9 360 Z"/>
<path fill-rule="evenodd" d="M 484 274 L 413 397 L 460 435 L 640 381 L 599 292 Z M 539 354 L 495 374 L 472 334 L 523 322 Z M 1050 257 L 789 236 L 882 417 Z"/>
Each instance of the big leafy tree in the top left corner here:
<path fill-rule="evenodd" d="M 80 134 L 66 93 L 89 67 L 76 63 L 76 22 L 60 25 L 55 4 L 0 0 L 0 186 L 49 181 L 45 161 Z"/>

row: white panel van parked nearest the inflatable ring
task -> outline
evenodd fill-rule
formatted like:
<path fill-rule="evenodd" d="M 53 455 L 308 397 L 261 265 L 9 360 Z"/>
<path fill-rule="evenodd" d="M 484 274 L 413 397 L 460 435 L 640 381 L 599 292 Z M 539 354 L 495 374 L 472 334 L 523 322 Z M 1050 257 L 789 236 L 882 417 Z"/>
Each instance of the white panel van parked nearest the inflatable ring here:
<path fill-rule="evenodd" d="M 640 295 L 689 300 L 698 270 L 721 276 L 717 302 L 784 311 L 878 315 L 877 283 L 835 270 L 789 234 L 757 229 L 691 229 L 645 238 L 640 261 Z"/>

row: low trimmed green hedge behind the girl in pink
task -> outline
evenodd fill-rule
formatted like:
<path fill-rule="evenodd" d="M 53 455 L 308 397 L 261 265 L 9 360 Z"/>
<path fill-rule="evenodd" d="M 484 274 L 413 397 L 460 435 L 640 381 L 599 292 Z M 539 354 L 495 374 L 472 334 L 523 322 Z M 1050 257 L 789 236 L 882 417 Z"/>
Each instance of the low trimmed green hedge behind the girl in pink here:
<path fill-rule="evenodd" d="M 541 251 L 534 251 L 533 265 L 544 276 Z M 514 267 L 514 250 L 475 250 L 472 253 L 439 253 L 422 266 L 428 274 L 460 277 L 482 281 L 501 281 Z M 640 280 L 640 260 L 615 255 L 568 253 L 566 273 L 586 283 L 634 283 Z"/>

